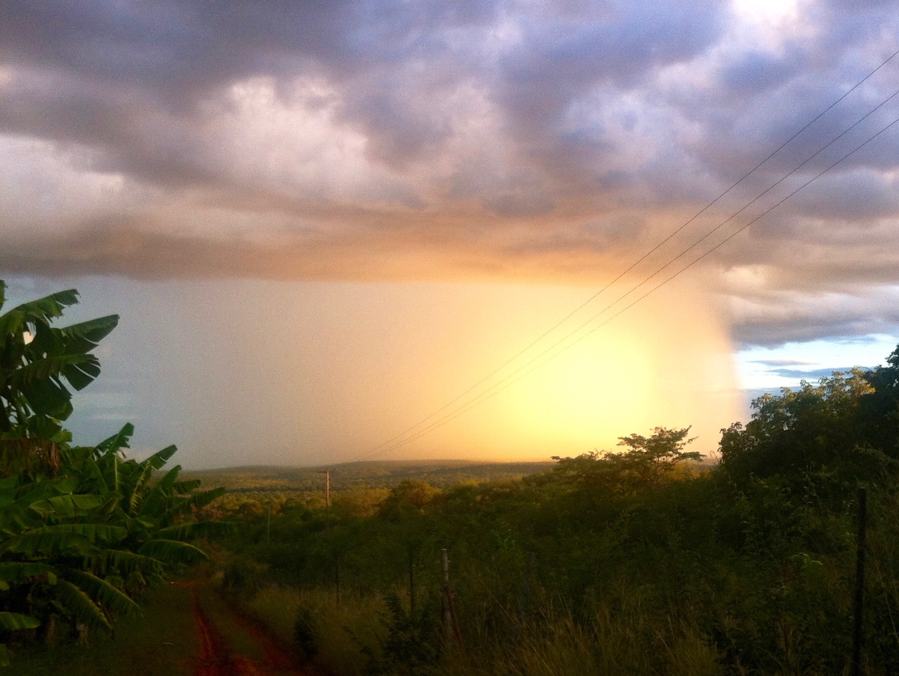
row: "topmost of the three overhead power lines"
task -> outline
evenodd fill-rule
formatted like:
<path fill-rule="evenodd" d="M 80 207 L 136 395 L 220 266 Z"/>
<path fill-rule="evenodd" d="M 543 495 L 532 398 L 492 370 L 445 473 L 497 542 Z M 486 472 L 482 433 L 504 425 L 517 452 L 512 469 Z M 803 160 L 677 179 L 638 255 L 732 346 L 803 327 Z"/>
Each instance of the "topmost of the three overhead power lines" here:
<path fill-rule="evenodd" d="M 634 268 L 636 268 L 637 265 L 639 265 L 641 262 L 644 262 L 646 258 L 648 258 L 650 255 L 654 254 L 656 251 L 658 251 L 658 249 L 661 248 L 663 245 L 667 244 L 667 243 L 672 239 L 672 237 L 677 236 L 679 233 L 681 233 L 681 231 L 683 231 L 683 229 L 684 229 L 685 227 L 688 227 L 688 226 L 690 225 L 690 223 L 692 223 L 694 220 L 696 220 L 697 218 L 699 218 L 699 216 L 701 216 L 703 213 L 705 213 L 710 207 L 714 206 L 714 205 L 717 203 L 717 201 L 718 201 L 718 200 L 721 200 L 723 197 L 725 197 L 725 195 L 726 195 L 728 192 L 734 190 L 734 188 L 735 188 L 737 185 L 739 185 L 740 183 L 742 183 L 742 182 L 743 182 L 746 178 L 748 178 L 752 173 L 754 173 L 756 170 L 758 170 L 758 169 L 761 167 L 761 165 L 764 165 L 764 164 L 765 164 L 766 162 L 768 162 L 773 156 L 777 155 L 777 154 L 780 152 L 780 150 L 782 150 L 784 147 L 786 147 L 786 146 L 790 143 L 790 141 L 792 141 L 794 138 L 797 138 L 797 136 L 799 136 L 802 132 L 804 132 L 806 129 L 808 129 L 809 127 L 811 127 L 816 121 L 820 120 L 820 119 L 821 119 L 827 112 L 831 111 L 832 108 L 833 108 L 834 106 L 836 106 L 839 102 L 841 102 L 843 99 L 845 99 L 847 96 L 849 96 L 850 93 L 854 92 L 856 89 L 859 88 L 859 86 L 861 86 L 862 84 L 864 84 L 865 82 L 867 82 L 868 79 L 869 79 L 871 76 L 874 76 L 874 75 L 877 73 L 877 71 L 879 71 L 882 67 L 885 67 L 886 64 L 889 63 L 889 61 L 891 61 L 893 58 L 895 58 L 896 55 L 899 55 L 899 49 L 897 49 L 897 50 L 896 50 L 895 52 L 893 52 L 889 57 L 887 57 L 886 59 L 884 59 L 884 60 L 883 60 L 883 61 L 882 61 L 876 68 L 874 68 L 873 70 L 871 70 L 871 71 L 868 73 L 868 75 L 866 75 L 866 76 L 864 76 L 863 78 L 861 78 L 856 84 L 853 84 L 853 85 L 850 87 L 850 89 L 848 89 L 848 90 L 847 90 L 845 93 L 843 93 L 838 99 L 836 99 L 836 100 L 835 100 L 834 102 L 832 102 L 829 106 L 827 106 L 827 108 L 825 108 L 823 111 L 819 112 L 819 113 L 818 113 L 812 120 L 809 120 L 809 121 L 808 121 L 808 122 L 801 128 L 801 129 L 798 129 L 798 130 L 797 130 L 791 137 L 789 137 L 787 140 L 785 140 L 783 143 L 781 143 L 781 144 L 779 145 L 779 147 L 775 148 L 775 149 L 774 149 L 768 156 L 765 156 L 764 159 L 761 160 L 761 162 L 759 162 L 757 165 L 753 166 L 752 169 L 750 169 L 748 172 L 744 173 L 739 179 L 737 179 L 737 180 L 736 180 L 734 183 L 732 183 L 728 188 L 726 188 L 725 191 L 722 191 L 720 194 L 718 194 L 717 197 L 716 197 L 714 200 L 711 200 L 711 201 L 708 202 L 708 204 L 706 204 L 702 209 L 699 209 L 699 211 L 697 211 L 695 214 L 693 214 L 693 216 L 691 216 L 687 221 L 685 221 L 680 227 L 678 227 L 677 229 L 673 230 L 672 233 L 670 233 L 668 236 L 666 236 L 661 242 L 659 242 L 658 244 L 654 245 L 654 247 L 651 248 L 651 249 L 649 249 L 647 252 L 645 252 L 645 254 L 641 255 L 638 259 L 636 259 L 635 262 L 631 263 L 631 264 L 628 266 L 628 268 L 627 268 L 626 270 L 621 271 L 617 277 L 615 277 L 613 280 L 611 280 L 610 282 L 608 282 L 605 286 L 603 286 L 603 287 L 602 287 L 601 289 L 599 289 L 596 293 L 594 293 L 590 298 L 587 298 L 586 300 L 584 300 L 583 303 L 581 303 L 581 305 L 579 305 L 578 307 L 575 307 L 574 310 L 572 310 L 568 315 L 564 316 L 564 317 L 563 317 L 561 320 L 559 320 L 555 325 L 553 325 L 553 326 L 551 326 L 550 328 L 548 328 L 547 331 L 545 331 L 543 334 L 540 334 L 537 338 L 535 338 L 532 342 L 530 342 L 528 345 L 526 345 L 526 346 L 525 346 L 524 348 L 522 348 L 520 351 L 518 351 L 518 352 L 516 352 L 515 354 L 513 354 L 512 357 L 510 357 L 508 360 L 503 361 L 503 363 L 502 363 L 500 366 L 498 366 L 496 369 L 492 370 L 492 371 L 491 371 L 490 373 L 488 373 L 484 378 L 481 378 L 480 380 L 478 380 L 474 385 L 472 385 L 471 387 L 468 387 L 467 390 L 465 390 L 464 392 L 462 392 L 461 394 L 459 394 L 458 396 L 456 396 L 454 399 L 450 400 L 450 401 L 447 402 L 446 404 L 442 405 L 439 409 L 437 409 L 436 411 L 434 411 L 432 414 L 430 414 L 430 415 L 424 417 L 422 420 L 418 421 L 417 423 L 414 423 L 414 425 L 412 425 L 411 427 L 408 427 L 408 428 L 405 429 L 404 431 L 399 432 L 398 434 L 396 434 L 395 436 L 391 437 L 390 439 L 387 439 L 387 440 L 385 440 L 385 441 L 382 441 L 380 444 L 378 444 L 378 446 L 375 446 L 375 447 L 374 447 L 373 449 L 371 449 L 371 450 L 372 450 L 372 451 L 377 451 L 378 449 L 381 449 L 381 448 L 383 448 L 383 447 L 389 445 L 391 442 L 400 439 L 401 437 L 405 436 L 405 434 L 407 434 L 408 432 L 413 431 L 415 428 L 419 427 L 419 426 L 422 425 L 423 423 L 426 423 L 427 421 L 431 420 L 435 415 L 440 414 L 442 411 L 445 411 L 447 408 L 449 408 L 449 406 L 455 404 L 456 402 L 458 402 L 459 399 L 463 398 L 463 397 L 466 396 L 468 393 L 470 393 L 472 390 L 476 389 L 476 387 L 479 387 L 480 385 L 483 385 L 487 380 L 489 380 L 490 378 L 493 378 L 497 373 L 499 373 L 501 370 L 503 370 L 505 367 L 507 367 L 509 364 L 511 364 L 512 361 L 517 360 L 519 357 L 521 357 L 522 354 L 524 354 L 525 352 L 529 351 L 530 348 L 532 348 L 532 347 L 533 347 L 534 345 L 536 345 L 538 342 L 540 342 L 540 341 L 542 341 L 544 338 L 546 338 L 547 335 L 549 335 L 549 334 L 553 333 L 554 331 L 556 331 L 556 329 L 557 329 L 559 326 L 565 324 L 566 321 L 568 321 L 569 319 L 571 319 L 571 317 L 573 317 L 573 316 L 576 315 L 578 312 L 580 312 L 580 311 L 583 309 L 583 307 L 585 307 L 585 306 L 587 306 L 588 304 L 590 304 L 595 298 L 598 298 L 604 291 L 606 291 L 607 289 L 610 289 L 610 287 L 611 287 L 613 284 L 615 284 L 615 283 L 616 283 L 617 281 L 619 281 L 622 277 L 624 277 L 626 274 L 628 274 L 628 272 L 634 270 Z M 894 95 L 895 95 L 895 94 L 894 94 Z M 892 97 L 891 97 L 891 98 L 892 98 Z M 886 103 L 886 102 L 885 102 L 885 103 Z M 883 103 L 881 103 L 881 105 L 883 105 Z M 879 106 L 878 106 L 878 107 L 879 107 Z M 875 109 L 875 110 L 877 110 L 877 109 Z M 871 111 L 871 112 L 873 112 L 873 111 Z M 868 113 L 868 114 L 870 114 L 870 113 Z M 867 117 L 867 116 L 866 116 L 866 117 Z M 859 121 L 860 121 L 860 120 L 859 120 Z M 857 124 L 858 124 L 858 123 L 857 123 Z M 853 125 L 853 126 L 854 126 L 854 125 Z M 851 129 L 851 128 L 850 128 L 850 129 Z M 847 131 L 848 131 L 848 130 L 849 130 L 849 129 L 847 129 Z M 843 133 L 845 133 L 845 132 L 843 132 Z M 839 137 L 838 137 L 838 138 L 839 138 Z M 834 139 L 834 140 L 836 140 L 836 139 Z M 822 148 L 822 149 L 823 149 L 823 148 Z M 788 175 L 789 175 L 789 174 L 788 174 Z M 771 187 L 773 187 L 773 186 L 771 186 Z M 770 189 L 769 189 L 769 190 L 770 190 Z M 764 193 L 762 193 L 762 194 L 764 194 Z M 761 197 L 761 195 L 760 195 L 759 197 Z M 757 198 L 757 199 L 758 199 L 758 198 Z M 754 201 L 754 200 L 753 200 L 753 201 Z M 752 202 L 751 202 L 750 204 L 752 204 Z M 749 206 L 749 205 L 746 205 L 746 206 Z M 739 212 L 737 212 L 737 213 L 739 213 Z M 734 214 L 734 215 L 735 215 L 735 214 Z M 722 224 L 722 225 L 723 225 L 723 224 Z"/>

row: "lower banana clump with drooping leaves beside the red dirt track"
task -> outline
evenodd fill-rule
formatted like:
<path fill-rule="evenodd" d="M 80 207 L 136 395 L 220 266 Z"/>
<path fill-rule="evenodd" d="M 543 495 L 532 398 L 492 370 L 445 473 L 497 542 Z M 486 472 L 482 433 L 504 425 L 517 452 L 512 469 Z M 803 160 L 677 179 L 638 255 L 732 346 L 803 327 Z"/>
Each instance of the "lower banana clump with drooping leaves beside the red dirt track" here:
<path fill-rule="evenodd" d="M 28 585 L 44 616 L 58 611 L 108 632 L 111 613 L 139 612 L 127 581 L 137 591 L 162 583 L 173 565 L 206 558 L 191 539 L 233 528 L 191 521 L 222 489 L 179 482 L 180 466 L 156 480 L 174 446 L 142 462 L 123 458 L 133 432 L 128 424 L 96 447 L 64 449 L 62 476 L 25 485 L 17 476 L 0 480 L 0 592 Z M 0 614 L 0 627 L 37 627 L 35 614 L 41 612 Z M 0 664 L 4 654 L 0 647 Z"/>

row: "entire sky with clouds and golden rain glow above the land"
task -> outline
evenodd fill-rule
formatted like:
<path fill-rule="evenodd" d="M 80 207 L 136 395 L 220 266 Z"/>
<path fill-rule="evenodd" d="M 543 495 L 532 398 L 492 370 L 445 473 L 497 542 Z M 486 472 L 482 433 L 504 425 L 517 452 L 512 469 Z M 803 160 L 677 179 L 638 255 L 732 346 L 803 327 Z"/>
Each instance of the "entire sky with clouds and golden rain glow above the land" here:
<path fill-rule="evenodd" d="M 899 56 L 852 89 L 897 4 L 11 0 L 0 275 L 121 315 L 84 442 L 536 459 L 692 424 L 711 452 L 751 396 L 899 342 Z"/>

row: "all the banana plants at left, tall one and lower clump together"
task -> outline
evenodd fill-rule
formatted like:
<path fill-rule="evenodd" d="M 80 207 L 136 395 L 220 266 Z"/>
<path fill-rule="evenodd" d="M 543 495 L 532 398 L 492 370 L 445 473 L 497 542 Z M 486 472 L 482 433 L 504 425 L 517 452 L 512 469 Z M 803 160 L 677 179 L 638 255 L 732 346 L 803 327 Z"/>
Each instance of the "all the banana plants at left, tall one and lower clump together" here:
<path fill-rule="evenodd" d="M 0 307 L 4 299 L 0 281 Z M 221 490 L 179 482 L 181 467 L 153 481 L 174 446 L 143 462 L 124 458 L 131 424 L 95 447 L 69 445 L 70 388 L 100 374 L 90 352 L 118 322 L 51 326 L 76 302 L 68 290 L 0 316 L 0 627 L 8 636 L 51 615 L 111 631 L 114 618 L 139 613 L 133 594 L 206 558 L 187 540 L 227 529 L 192 520 Z"/>

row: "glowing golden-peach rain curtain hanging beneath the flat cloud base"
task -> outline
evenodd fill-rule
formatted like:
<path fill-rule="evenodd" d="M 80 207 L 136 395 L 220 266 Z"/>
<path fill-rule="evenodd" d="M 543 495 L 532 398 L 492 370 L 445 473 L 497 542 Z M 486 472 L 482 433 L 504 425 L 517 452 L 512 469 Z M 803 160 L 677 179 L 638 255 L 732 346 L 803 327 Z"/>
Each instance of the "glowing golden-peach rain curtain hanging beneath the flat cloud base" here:
<path fill-rule="evenodd" d="M 204 285 L 195 293 L 221 307 L 233 305 L 235 297 L 263 299 L 194 327 L 189 308 L 198 299 L 171 297 L 170 311 L 183 306 L 180 321 L 187 324 L 171 336 L 171 346 L 158 349 L 177 348 L 190 358 L 175 381 L 184 391 L 172 396 L 186 403 L 185 420 L 209 449 L 254 449 L 284 464 L 369 457 L 546 459 L 614 449 L 619 436 L 655 426 L 693 425 L 699 437 L 694 448 L 710 452 L 719 430 L 743 413 L 725 326 L 707 296 L 683 281 L 467 414 L 401 448 L 374 452 L 521 351 L 592 289 L 244 282 Z M 592 303 L 566 327 L 602 306 Z M 458 403 L 552 342 L 541 342 Z M 198 366 L 201 355 L 236 353 L 245 358 L 230 361 L 221 374 Z M 215 424 L 204 413 L 205 400 L 191 396 L 200 388 L 227 391 L 234 382 L 241 383 L 241 396 L 219 398 L 216 405 L 219 419 L 241 420 L 238 431 Z M 273 417 L 296 442 L 272 433 Z"/>

